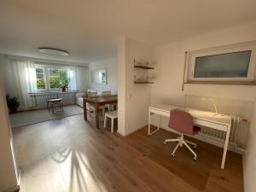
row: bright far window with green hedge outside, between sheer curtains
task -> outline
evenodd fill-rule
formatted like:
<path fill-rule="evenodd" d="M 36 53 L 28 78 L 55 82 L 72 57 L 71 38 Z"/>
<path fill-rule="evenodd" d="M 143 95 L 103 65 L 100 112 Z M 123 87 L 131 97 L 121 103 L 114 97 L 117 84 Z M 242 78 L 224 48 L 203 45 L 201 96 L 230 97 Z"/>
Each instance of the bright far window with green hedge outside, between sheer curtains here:
<path fill-rule="evenodd" d="M 60 90 L 66 87 L 75 90 L 75 76 L 73 69 L 69 67 L 37 66 L 38 90 Z"/>

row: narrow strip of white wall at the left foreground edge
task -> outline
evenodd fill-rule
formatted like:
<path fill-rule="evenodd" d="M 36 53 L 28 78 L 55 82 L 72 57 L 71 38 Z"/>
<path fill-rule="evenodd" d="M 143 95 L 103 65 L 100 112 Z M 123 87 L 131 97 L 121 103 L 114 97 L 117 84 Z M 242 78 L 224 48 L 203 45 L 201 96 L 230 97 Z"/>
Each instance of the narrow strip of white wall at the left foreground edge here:
<path fill-rule="evenodd" d="M 0 72 L 1 76 L 3 73 Z M 12 154 L 12 134 L 5 102 L 3 79 L 0 77 L 0 191 L 17 186 L 15 160 Z"/>

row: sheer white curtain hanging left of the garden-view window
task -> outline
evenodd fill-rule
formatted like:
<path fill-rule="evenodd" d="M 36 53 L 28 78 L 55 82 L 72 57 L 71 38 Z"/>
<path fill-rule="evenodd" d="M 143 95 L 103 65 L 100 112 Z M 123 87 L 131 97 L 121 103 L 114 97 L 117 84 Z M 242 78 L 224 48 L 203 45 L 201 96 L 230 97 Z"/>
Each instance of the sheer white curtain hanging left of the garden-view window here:
<path fill-rule="evenodd" d="M 14 82 L 13 96 L 20 100 L 20 108 L 26 109 L 32 107 L 30 92 L 36 92 L 37 78 L 35 64 L 32 61 L 11 60 L 11 73 Z"/>

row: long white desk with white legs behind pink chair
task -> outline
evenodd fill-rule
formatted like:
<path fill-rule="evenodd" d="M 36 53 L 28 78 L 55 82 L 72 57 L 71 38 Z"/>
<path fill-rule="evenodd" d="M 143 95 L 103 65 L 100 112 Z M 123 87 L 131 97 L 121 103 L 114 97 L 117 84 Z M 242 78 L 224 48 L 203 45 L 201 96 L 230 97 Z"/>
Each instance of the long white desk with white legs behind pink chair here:
<path fill-rule="evenodd" d="M 160 116 L 162 115 L 162 116 L 170 117 L 170 111 L 174 108 L 179 108 L 179 107 L 175 107 L 171 105 L 157 105 L 157 106 L 149 107 L 148 136 L 160 130 Z M 225 159 L 226 159 L 226 154 L 227 154 L 227 149 L 229 144 L 229 138 L 230 138 L 231 117 L 228 115 L 221 115 L 221 114 L 214 115 L 214 113 L 212 112 L 201 111 L 201 110 L 196 110 L 192 108 L 180 108 L 180 109 L 187 111 L 193 116 L 193 121 L 195 125 L 203 125 L 203 126 L 211 127 L 212 129 L 226 132 L 226 138 L 224 142 L 224 152 L 223 152 L 223 158 L 221 163 L 221 168 L 224 169 Z M 150 131 L 151 113 L 159 114 L 158 129 L 153 132 Z"/>

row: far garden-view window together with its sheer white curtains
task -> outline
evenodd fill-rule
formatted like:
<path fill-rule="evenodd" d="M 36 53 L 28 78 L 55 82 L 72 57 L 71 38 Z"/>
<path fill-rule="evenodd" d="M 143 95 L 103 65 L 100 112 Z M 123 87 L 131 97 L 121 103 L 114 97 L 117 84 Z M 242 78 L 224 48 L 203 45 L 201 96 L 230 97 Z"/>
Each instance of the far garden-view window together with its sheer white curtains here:
<path fill-rule="evenodd" d="M 68 90 L 85 91 L 88 83 L 87 66 L 58 66 L 27 61 L 22 58 L 9 58 L 9 96 L 17 96 L 20 108 L 33 107 L 31 94 L 61 90 L 63 79 Z"/>

